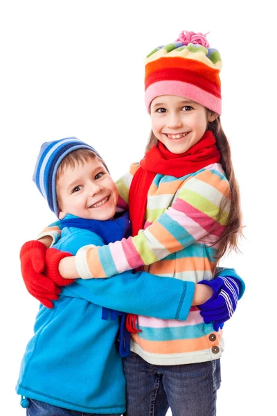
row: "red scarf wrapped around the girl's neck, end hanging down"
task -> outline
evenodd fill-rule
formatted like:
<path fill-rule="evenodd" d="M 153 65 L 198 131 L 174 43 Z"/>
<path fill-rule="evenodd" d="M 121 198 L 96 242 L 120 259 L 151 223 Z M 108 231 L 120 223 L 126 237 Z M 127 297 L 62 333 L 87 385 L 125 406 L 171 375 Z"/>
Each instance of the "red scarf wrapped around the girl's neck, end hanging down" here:
<path fill-rule="evenodd" d="M 132 224 L 132 236 L 136 236 L 145 223 L 145 209 L 148 191 L 157 173 L 182 177 L 199 171 L 209 164 L 220 162 L 215 137 L 210 130 L 206 131 L 197 144 L 185 153 L 171 153 L 161 141 L 153 146 L 140 162 L 129 189 L 129 216 Z M 130 332 L 137 332 L 136 315 L 127 316 L 126 327 Z"/>

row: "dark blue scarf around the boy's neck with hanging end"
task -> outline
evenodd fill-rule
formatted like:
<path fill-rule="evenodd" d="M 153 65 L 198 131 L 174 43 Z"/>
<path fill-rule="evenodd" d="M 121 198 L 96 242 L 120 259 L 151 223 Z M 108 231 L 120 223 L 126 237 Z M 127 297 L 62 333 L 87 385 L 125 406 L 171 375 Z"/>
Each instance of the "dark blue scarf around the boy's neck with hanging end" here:
<path fill-rule="evenodd" d="M 123 237 L 128 238 L 131 235 L 128 213 L 114 220 L 105 221 L 86 220 L 67 214 L 63 220 L 60 220 L 60 228 L 63 229 L 64 227 L 88 229 L 100 236 L 105 244 L 120 241 Z M 118 352 L 120 356 L 125 357 L 130 355 L 130 333 L 125 327 L 126 313 L 102 307 L 102 319 L 107 320 L 110 317 L 111 320 L 116 320 L 117 316 L 120 318 Z"/>

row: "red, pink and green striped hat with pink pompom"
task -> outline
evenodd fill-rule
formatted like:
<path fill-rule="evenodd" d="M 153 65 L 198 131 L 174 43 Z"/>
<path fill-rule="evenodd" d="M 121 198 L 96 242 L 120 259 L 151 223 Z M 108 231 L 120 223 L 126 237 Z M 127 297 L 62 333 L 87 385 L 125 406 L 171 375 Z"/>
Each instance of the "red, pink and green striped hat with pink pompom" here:
<path fill-rule="evenodd" d="M 154 49 L 145 60 L 145 104 L 161 95 L 190 98 L 221 114 L 220 53 L 206 35 L 183 31 L 171 44 Z"/>

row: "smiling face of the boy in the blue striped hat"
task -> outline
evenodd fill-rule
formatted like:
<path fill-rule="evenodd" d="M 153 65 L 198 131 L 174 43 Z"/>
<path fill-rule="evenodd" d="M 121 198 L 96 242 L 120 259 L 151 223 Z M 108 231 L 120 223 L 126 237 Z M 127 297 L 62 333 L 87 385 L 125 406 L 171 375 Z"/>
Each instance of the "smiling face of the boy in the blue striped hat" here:
<path fill-rule="evenodd" d="M 57 180 L 60 214 L 109 220 L 116 212 L 118 191 L 105 166 L 97 159 L 68 167 Z"/>

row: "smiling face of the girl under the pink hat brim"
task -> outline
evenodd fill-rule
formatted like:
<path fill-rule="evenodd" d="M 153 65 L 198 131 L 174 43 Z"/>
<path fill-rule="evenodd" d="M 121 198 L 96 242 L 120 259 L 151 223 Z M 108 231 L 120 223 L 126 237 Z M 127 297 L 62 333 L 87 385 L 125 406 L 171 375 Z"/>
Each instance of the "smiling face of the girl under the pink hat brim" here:
<path fill-rule="evenodd" d="M 164 95 L 151 103 L 151 121 L 154 135 L 172 153 L 186 152 L 202 138 L 208 121 L 217 114 L 189 98 Z"/>

